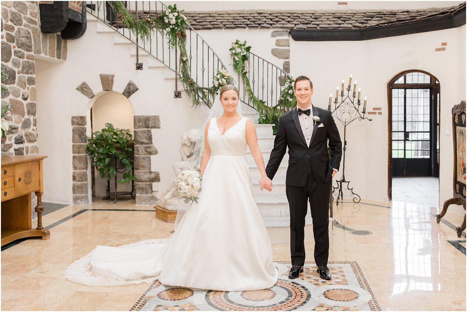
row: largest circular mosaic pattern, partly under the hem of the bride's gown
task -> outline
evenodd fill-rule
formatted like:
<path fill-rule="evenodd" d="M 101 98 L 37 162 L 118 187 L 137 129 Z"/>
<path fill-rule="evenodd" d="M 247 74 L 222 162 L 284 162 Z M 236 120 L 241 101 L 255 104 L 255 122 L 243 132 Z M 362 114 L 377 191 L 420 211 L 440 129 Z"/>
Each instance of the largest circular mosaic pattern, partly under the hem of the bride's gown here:
<path fill-rule="evenodd" d="M 291 311 L 302 307 L 311 298 L 310 291 L 295 282 L 278 280 L 272 288 L 275 291 L 243 291 L 238 297 L 235 292 L 207 291 L 205 300 L 208 305 L 220 311 Z M 240 303 L 241 299 L 251 302 Z"/>

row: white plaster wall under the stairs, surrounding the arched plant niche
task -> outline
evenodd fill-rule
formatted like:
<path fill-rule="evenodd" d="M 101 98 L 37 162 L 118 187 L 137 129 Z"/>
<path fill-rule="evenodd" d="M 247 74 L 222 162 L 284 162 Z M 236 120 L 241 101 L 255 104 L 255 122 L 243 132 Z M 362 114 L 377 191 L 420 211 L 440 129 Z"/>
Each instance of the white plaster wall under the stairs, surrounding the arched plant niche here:
<path fill-rule="evenodd" d="M 160 115 L 161 128 L 153 129 L 153 142 L 159 153 L 152 156 L 152 170 L 159 171 L 161 182 L 156 197 L 175 177 L 171 164 L 180 160 L 180 136 L 199 128 L 207 107 L 191 107 L 191 99 L 173 98 L 174 80 L 164 79 L 164 69 L 149 69 L 148 57 L 140 57 L 144 70 L 134 69 L 135 57 L 129 45 L 114 45 L 113 34 L 96 33 L 96 23 L 88 22 L 85 34 L 68 41 L 66 62 L 36 61 L 38 147 L 44 161 L 43 201 L 72 203 L 71 116 L 88 116 L 92 103 L 102 93 L 99 74 L 114 74 L 113 91 L 122 92 L 129 80 L 139 90 L 130 98 L 135 115 Z M 86 81 L 96 97 L 88 99 L 76 90 Z M 90 170 L 90 169 L 89 169 Z M 90 172 L 89 172 L 90 173 Z M 89 175 L 89 194 L 91 180 Z"/>

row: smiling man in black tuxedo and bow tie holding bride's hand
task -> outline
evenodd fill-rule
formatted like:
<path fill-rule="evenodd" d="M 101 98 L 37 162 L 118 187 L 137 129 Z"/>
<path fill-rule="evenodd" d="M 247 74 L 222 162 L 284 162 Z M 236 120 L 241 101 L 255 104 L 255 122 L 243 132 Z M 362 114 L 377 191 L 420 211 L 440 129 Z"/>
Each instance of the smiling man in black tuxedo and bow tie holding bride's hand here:
<path fill-rule="evenodd" d="M 289 166 L 285 190 L 290 209 L 290 254 L 292 268 L 289 277 L 297 278 L 305 262 L 304 227 L 310 201 L 315 239 L 315 262 L 319 276 L 331 279 L 327 267 L 329 255 L 328 209 L 332 182 L 339 170 L 342 142 L 331 111 L 312 105 L 313 84 L 305 76 L 295 79 L 297 106 L 283 114 L 277 126 L 274 149 L 269 157 L 266 174 L 272 180 L 289 148 Z M 327 140 L 332 151 L 329 159 Z"/>

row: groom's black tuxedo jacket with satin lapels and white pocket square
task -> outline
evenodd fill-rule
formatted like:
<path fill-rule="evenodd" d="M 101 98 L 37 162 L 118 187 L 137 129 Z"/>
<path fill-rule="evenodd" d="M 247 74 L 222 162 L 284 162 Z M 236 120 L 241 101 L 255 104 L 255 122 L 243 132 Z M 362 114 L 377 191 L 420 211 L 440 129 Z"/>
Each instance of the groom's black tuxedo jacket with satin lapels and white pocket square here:
<path fill-rule="evenodd" d="M 312 105 L 313 116 L 319 116 L 314 125 L 310 144 L 307 145 L 300 122 L 297 106 L 279 118 L 274 148 L 269 157 L 266 174 L 272 180 L 289 147 L 289 166 L 285 184 L 305 186 L 308 176 L 308 163 L 311 165 L 313 177 L 318 183 L 326 183 L 331 179 L 333 168 L 339 170 L 342 157 L 342 142 L 331 111 Z M 323 126 L 319 127 L 322 124 Z M 331 159 L 327 153 L 327 139 L 332 151 Z"/>

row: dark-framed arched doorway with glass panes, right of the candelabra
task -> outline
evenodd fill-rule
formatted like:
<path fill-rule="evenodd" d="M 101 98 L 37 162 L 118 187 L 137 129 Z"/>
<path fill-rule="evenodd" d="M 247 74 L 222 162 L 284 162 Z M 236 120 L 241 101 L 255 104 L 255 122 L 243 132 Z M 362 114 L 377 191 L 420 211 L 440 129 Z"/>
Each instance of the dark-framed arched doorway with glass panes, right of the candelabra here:
<path fill-rule="evenodd" d="M 426 71 L 389 82 L 389 200 L 438 206 L 439 101 L 439 81 Z"/>

